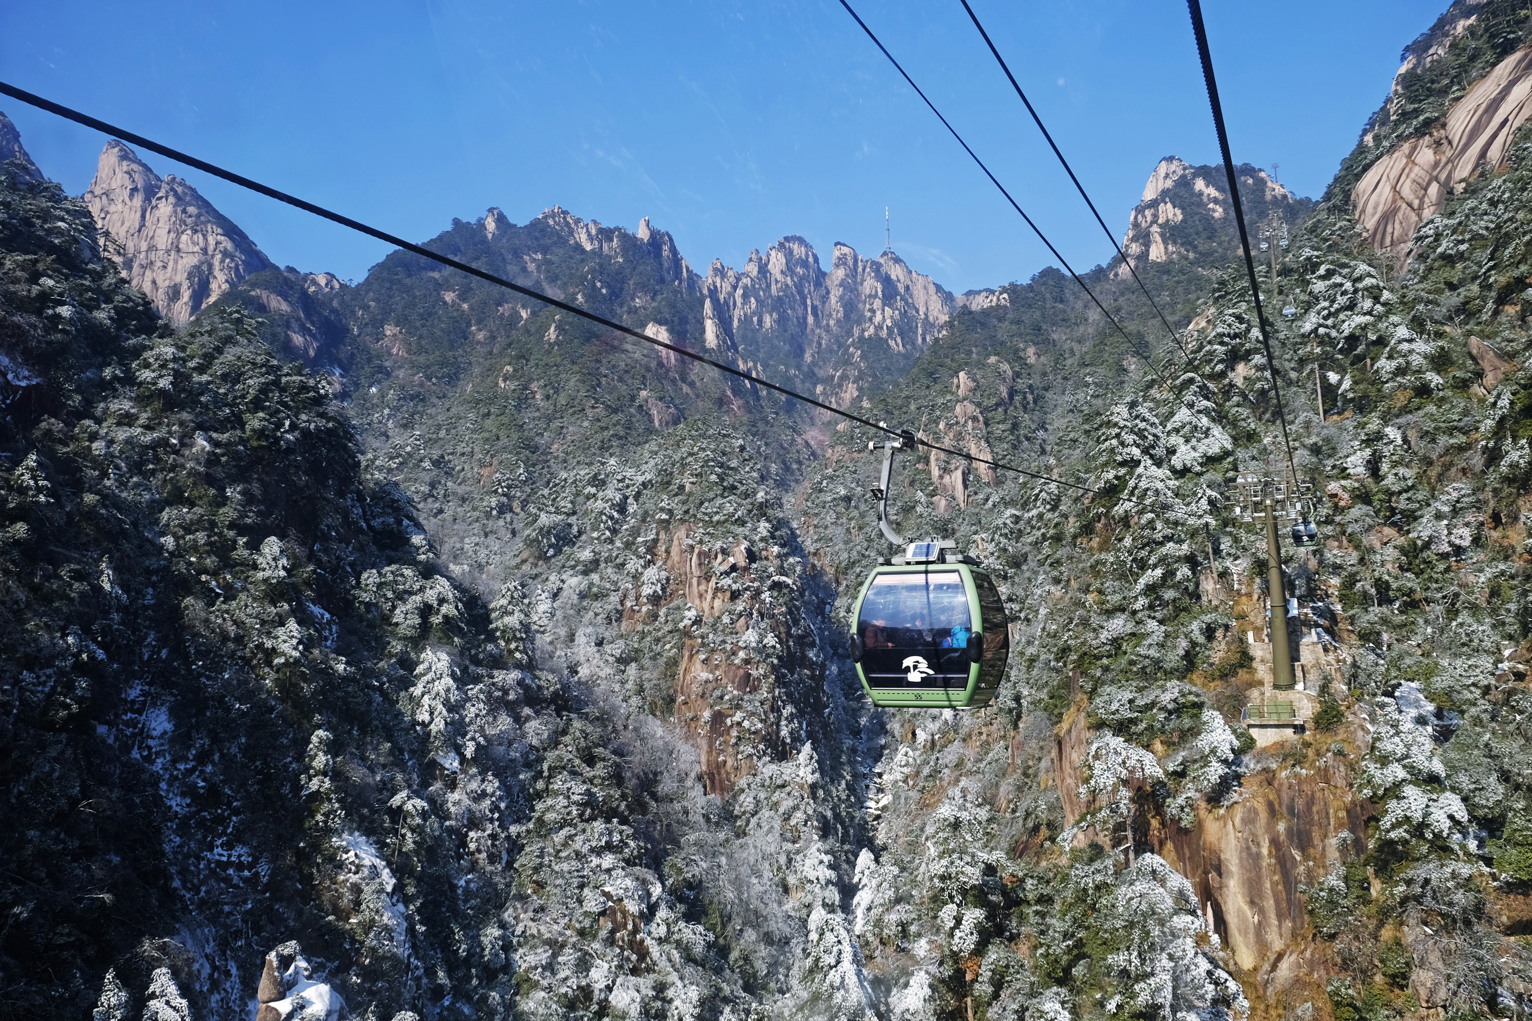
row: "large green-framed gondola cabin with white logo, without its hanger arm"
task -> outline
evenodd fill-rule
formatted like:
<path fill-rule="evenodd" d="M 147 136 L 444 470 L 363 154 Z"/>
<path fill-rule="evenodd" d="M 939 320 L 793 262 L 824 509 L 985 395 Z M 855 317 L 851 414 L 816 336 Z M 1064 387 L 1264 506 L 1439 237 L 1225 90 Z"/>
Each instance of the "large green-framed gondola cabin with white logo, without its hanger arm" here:
<path fill-rule="evenodd" d="M 876 706 L 979 709 L 994 698 L 1010 628 L 994 582 L 951 543 L 916 542 L 856 597 L 856 675 Z"/>

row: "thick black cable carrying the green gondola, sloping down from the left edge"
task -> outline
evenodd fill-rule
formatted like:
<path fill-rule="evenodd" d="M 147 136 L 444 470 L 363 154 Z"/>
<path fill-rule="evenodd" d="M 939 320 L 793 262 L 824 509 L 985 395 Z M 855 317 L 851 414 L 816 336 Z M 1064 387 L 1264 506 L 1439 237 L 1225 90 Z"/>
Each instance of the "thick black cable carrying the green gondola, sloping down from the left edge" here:
<path fill-rule="evenodd" d="M 349 216 L 343 216 L 340 213 L 334 213 L 331 210 L 326 210 L 322 205 L 314 205 L 313 202 L 308 202 L 305 199 L 299 199 L 297 196 L 291 196 L 291 194 L 288 194 L 285 191 L 277 191 L 276 188 L 264 185 L 259 181 L 251 181 L 250 178 L 237 175 L 237 173 L 234 173 L 231 170 L 224 170 L 222 167 L 219 167 L 216 164 L 210 164 L 205 159 L 198 159 L 196 156 L 190 156 L 190 155 L 182 153 L 182 152 L 179 152 L 176 148 L 170 148 L 169 145 L 161 145 L 159 142 L 156 142 L 153 139 L 149 139 L 149 138 L 144 138 L 142 135 L 135 135 L 133 132 L 123 130 L 121 127 L 116 127 L 115 124 L 107 124 L 106 121 L 97 119 L 97 118 L 93 118 L 93 116 L 90 116 L 87 113 L 81 113 L 80 110 L 75 110 L 72 107 L 66 107 L 63 104 L 54 103 L 52 99 L 44 99 L 43 96 L 34 95 L 31 92 L 23 90 L 23 89 L 17 89 L 15 86 L 11 86 L 11 84 L 3 83 L 3 81 L 0 81 L 0 93 L 8 95 L 12 99 L 20 99 L 21 103 L 26 103 L 29 106 L 35 106 L 40 110 L 47 110 L 49 113 L 55 113 L 55 115 L 58 115 L 58 116 L 61 116 L 61 118 L 64 118 L 67 121 L 74 121 L 75 124 L 83 124 L 84 127 L 95 129 L 98 132 L 104 133 L 104 135 L 110 135 L 113 138 L 121 138 L 124 141 L 132 142 L 133 145 L 138 145 L 139 148 L 147 148 L 149 152 L 159 153 L 161 156 L 165 156 L 169 159 L 175 159 L 176 162 L 185 164 L 187 167 L 195 167 L 195 168 L 198 168 L 198 170 L 201 170 L 204 173 L 213 175 L 214 178 L 222 178 L 224 181 L 228 181 L 230 184 L 237 184 L 242 188 L 248 188 L 251 191 L 256 191 L 259 194 L 267 196 L 270 199 L 276 199 L 277 202 L 285 202 L 286 205 L 293 205 L 296 208 L 300 208 L 305 213 L 313 213 L 314 216 L 320 216 L 320 217 L 323 217 L 326 220 L 331 220 L 334 223 L 340 223 L 342 227 L 348 227 L 348 228 L 351 228 L 351 230 L 354 230 L 357 233 L 366 234 L 369 237 L 375 237 L 375 239 L 378 239 L 381 242 L 386 242 L 389 245 L 394 245 L 397 248 L 403 248 L 404 251 L 412 253 L 415 256 L 420 256 L 421 259 L 429 259 L 432 262 L 438 262 L 443 266 L 449 266 L 452 269 L 458 269 L 458 271 L 466 272 L 466 274 L 469 274 L 472 277 L 478 277 L 480 280 L 486 280 L 487 283 L 493 283 L 493 285 L 506 288 L 509 291 L 515 291 L 516 294 L 522 294 L 522 295 L 525 295 L 529 298 L 533 298 L 536 302 L 542 302 L 544 305 L 552 305 L 556 309 L 562 309 L 565 312 L 570 312 L 571 315 L 578 315 L 578 317 L 590 320 L 591 323 L 596 323 L 599 326 L 605 326 L 607 329 L 616 331 L 619 334 L 625 334 L 625 335 L 628 335 L 628 337 L 631 337 L 634 340 L 642 340 L 643 343 L 651 344 L 654 347 L 662 347 L 662 349 L 669 351 L 673 354 L 677 354 L 677 355 L 680 355 L 683 358 L 689 358 L 692 361 L 699 361 L 702 364 L 712 366 L 719 372 L 725 372 L 725 373 L 732 375 L 735 378 L 745 380 L 746 383 L 752 383 L 755 386 L 766 387 L 768 390 L 775 390 L 777 393 L 781 393 L 784 396 L 791 396 L 795 401 L 803 401 L 804 404 L 809 404 L 812 407 L 818 407 L 820 410 L 824 410 L 824 412 L 830 412 L 832 415 L 840 415 L 841 418 L 850 419 L 850 421 L 856 422 L 858 426 L 866 426 L 867 429 L 872 429 L 872 430 L 876 430 L 876 432 L 881 432 L 881 433 L 887 433 L 890 436 L 898 436 L 901 439 L 905 438 L 904 432 L 901 432 L 898 429 L 890 429 L 889 426 L 884 426 L 882 422 L 875 422 L 875 421 L 872 421 L 869 418 L 863 418 L 861 415 L 856 415 L 855 412 L 847 412 L 846 409 L 835 407 L 833 404 L 826 404 L 824 401 L 817 401 L 812 396 L 806 396 L 803 393 L 798 393 L 797 390 L 791 390 L 791 389 L 787 389 L 784 386 L 780 386 L 777 383 L 772 383 L 769 380 L 763 380 L 761 377 L 758 377 L 758 375 L 755 375 L 752 372 L 746 372 L 743 369 L 737 369 L 737 367 L 734 367 L 731 364 L 726 364 L 723 361 L 717 361 L 714 358 L 708 358 L 706 355 L 700 355 L 700 354 L 697 354 L 694 351 L 688 351 L 685 347 L 680 347 L 679 344 L 671 344 L 671 343 L 659 340 L 656 337 L 650 337 L 648 334 L 636 331 L 631 326 L 624 326 L 622 323 L 619 323 L 616 320 L 611 320 L 611 318 L 607 318 L 605 315 L 599 315 L 596 312 L 591 312 L 590 309 L 584 309 L 584 308 L 581 308 L 578 305 L 570 305 L 568 302 L 562 302 L 559 298 L 555 298 L 552 295 L 542 294 L 541 291 L 535 291 L 535 289 L 522 286 L 519 283 L 512 283 L 510 280 L 506 280 L 504 277 L 496 277 L 493 272 L 486 272 L 484 269 L 480 269 L 476 266 L 470 266 L 466 262 L 458 262 L 457 259 L 452 259 L 450 256 L 443 256 L 441 253 L 430 251 L 429 248 L 426 248 L 423 245 L 417 245 L 414 242 L 408 242 L 403 237 L 398 237 L 395 234 L 389 234 L 388 231 L 381 231 L 381 230 L 378 230 L 375 227 L 369 227 L 369 225 L 363 223 L 362 220 L 351 219 Z M 1022 475 L 1022 476 L 1026 476 L 1030 479 L 1037 479 L 1039 482 L 1048 482 L 1049 485 L 1062 485 L 1065 488 L 1077 490 L 1080 493 L 1091 493 L 1094 496 L 1108 496 L 1102 490 L 1091 488 L 1089 485 L 1080 485 L 1079 482 L 1066 482 L 1065 479 L 1056 479 L 1051 475 L 1042 475 L 1039 471 L 1028 471 L 1026 468 L 1020 468 L 1020 467 L 1016 467 L 1013 464 L 1005 464 L 1002 461 L 991 461 L 988 458 L 979 458 L 979 456 L 974 456 L 971 453 L 965 453 L 962 450 L 954 450 L 951 447 L 944 447 L 941 444 L 933 444 L 933 442 L 930 442 L 927 439 L 916 438 L 916 442 L 919 445 L 922 445 L 922 447 L 927 447 L 930 450 L 936 450 L 939 453 L 951 455 L 954 458 L 962 458 L 962 459 L 971 461 L 974 464 L 987 464 L 991 468 L 997 468 L 1000 471 L 1014 471 L 1016 475 Z M 1128 497 L 1128 496 L 1120 496 L 1117 499 L 1121 501 L 1121 502 L 1124 502 L 1124 504 L 1137 504 L 1140 507 L 1149 507 L 1149 508 L 1157 508 L 1157 510 L 1174 510 L 1174 508 L 1169 508 L 1169 507 L 1161 507 L 1160 504 L 1149 504 L 1146 501 L 1135 501 L 1135 499 Z"/>

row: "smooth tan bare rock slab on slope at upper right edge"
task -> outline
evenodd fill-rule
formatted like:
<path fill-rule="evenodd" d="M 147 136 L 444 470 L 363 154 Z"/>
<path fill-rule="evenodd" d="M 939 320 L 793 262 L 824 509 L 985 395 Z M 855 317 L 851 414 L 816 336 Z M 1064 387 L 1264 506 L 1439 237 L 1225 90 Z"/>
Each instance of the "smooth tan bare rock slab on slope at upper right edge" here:
<path fill-rule="evenodd" d="M 1351 204 L 1373 248 L 1408 262 L 1416 228 L 1481 167 L 1504 164 L 1529 113 L 1532 47 L 1506 57 L 1474 83 L 1429 135 L 1403 142 L 1362 175 Z"/>

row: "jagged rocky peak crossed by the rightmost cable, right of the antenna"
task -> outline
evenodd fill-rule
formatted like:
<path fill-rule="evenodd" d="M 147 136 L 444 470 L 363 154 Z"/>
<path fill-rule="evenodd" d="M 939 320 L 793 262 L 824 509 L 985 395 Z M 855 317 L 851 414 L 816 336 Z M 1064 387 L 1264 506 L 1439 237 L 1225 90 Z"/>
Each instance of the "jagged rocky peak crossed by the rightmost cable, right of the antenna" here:
<path fill-rule="evenodd" d="M 1259 167 L 1238 167 L 1239 202 L 1252 233 L 1276 213 L 1288 230 L 1308 216 L 1313 202 L 1296 199 Z M 1250 239 L 1256 242 L 1255 237 Z M 1227 262 L 1239 253 L 1239 233 L 1229 201 L 1229 178 L 1223 165 L 1193 167 L 1178 156 L 1166 156 L 1149 175 L 1143 197 L 1128 220 L 1123 254 L 1134 269 L 1152 262 L 1186 259 Z M 1128 266 L 1112 271 L 1126 279 Z"/>

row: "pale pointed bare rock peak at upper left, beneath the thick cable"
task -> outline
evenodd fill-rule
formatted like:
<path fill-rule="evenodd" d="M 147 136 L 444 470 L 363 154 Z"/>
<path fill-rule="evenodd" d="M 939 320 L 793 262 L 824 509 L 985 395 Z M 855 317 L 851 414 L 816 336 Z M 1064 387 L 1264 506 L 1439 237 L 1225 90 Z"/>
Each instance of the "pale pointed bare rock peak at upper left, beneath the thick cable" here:
<path fill-rule="evenodd" d="M 101 150 L 84 194 L 124 276 L 182 325 L 253 272 L 274 269 L 245 231 L 176 176 L 159 178 L 123 142 Z"/>

